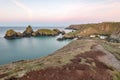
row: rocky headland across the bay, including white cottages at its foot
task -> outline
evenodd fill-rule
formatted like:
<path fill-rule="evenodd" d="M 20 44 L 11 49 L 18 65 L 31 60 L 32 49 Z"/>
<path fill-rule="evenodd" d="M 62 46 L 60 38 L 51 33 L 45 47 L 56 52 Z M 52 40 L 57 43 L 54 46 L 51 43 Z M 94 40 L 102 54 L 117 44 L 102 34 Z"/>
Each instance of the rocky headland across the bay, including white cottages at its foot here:
<path fill-rule="evenodd" d="M 75 31 L 65 34 L 62 39 L 98 37 L 112 42 L 120 42 L 120 22 L 70 25 L 67 29 Z"/>

